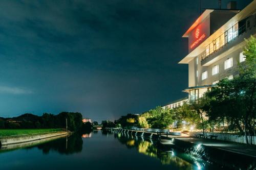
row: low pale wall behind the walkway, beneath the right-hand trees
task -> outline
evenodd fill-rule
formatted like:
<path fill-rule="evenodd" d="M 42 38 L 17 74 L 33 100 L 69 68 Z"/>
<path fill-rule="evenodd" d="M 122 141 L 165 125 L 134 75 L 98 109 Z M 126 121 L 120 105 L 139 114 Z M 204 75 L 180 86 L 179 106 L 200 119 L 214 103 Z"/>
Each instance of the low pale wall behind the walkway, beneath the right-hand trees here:
<path fill-rule="evenodd" d="M 189 132 L 189 136 L 196 136 L 197 134 L 202 134 L 202 132 Z M 217 135 L 218 140 L 231 141 L 237 143 L 246 143 L 244 136 L 224 134 L 224 133 L 205 133 L 205 135 Z M 256 136 L 252 139 L 252 143 L 256 145 Z"/>

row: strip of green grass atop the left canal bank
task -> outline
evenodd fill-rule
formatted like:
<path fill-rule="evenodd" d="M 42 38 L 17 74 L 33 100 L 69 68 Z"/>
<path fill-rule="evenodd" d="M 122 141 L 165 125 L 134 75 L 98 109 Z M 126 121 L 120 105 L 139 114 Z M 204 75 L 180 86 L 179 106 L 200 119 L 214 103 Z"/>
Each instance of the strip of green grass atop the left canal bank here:
<path fill-rule="evenodd" d="M 62 131 L 62 129 L 0 129 L 0 136 L 32 135 Z"/>

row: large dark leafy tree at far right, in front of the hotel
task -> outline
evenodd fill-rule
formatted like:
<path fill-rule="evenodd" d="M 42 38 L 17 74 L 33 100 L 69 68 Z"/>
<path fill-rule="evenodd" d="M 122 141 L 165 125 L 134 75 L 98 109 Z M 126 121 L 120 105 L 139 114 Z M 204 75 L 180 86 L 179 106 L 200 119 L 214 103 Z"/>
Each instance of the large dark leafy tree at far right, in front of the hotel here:
<path fill-rule="evenodd" d="M 208 104 L 204 108 L 210 120 L 226 121 L 228 130 L 244 134 L 248 144 L 248 136 L 255 135 L 256 39 L 251 37 L 246 42 L 246 60 L 239 64 L 238 76 L 223 79 L 206 92 Z"/>

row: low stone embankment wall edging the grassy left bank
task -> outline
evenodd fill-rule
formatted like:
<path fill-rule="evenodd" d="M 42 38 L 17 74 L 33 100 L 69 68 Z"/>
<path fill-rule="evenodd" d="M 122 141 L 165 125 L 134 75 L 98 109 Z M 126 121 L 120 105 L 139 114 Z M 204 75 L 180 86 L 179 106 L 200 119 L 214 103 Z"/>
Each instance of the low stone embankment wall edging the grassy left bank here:
<path fill-rule="evenodd" d="M 40 140 L 40 139 L 45 139 L 45 138 L 50 138 L 50 137 L 60 136 L 65 134 L 69 134 L 69 133 L 65 131 L 61 131 L 61 132 L 43 133 L 43 134 L 35 134 L 35 135 L 4 136 L 4 137 L 0 137 L 0 145 Z"/>

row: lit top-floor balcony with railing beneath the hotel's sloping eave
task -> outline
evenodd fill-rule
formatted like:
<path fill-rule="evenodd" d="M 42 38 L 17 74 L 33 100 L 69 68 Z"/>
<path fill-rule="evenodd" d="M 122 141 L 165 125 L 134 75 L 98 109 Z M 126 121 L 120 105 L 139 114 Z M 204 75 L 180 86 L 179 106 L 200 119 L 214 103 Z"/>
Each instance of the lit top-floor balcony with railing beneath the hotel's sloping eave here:
<path fill-rule="evenodd" d="M 218 51 L 223 45 L 227 44 L 229 41 L 233 40 L 238 35 L 245 32 L 245 30 L 245 25 L 241 26 L 240 28 L 238 28 L 238 23 L 233 25 L 231 28 L 229 28 L 227 31 L 221 34 L 218 38 L 212 40 L 211 43 L 206 45 L 205 52 L 201 55 L 201 61 L 206 59 L 210 54 Z"/>

